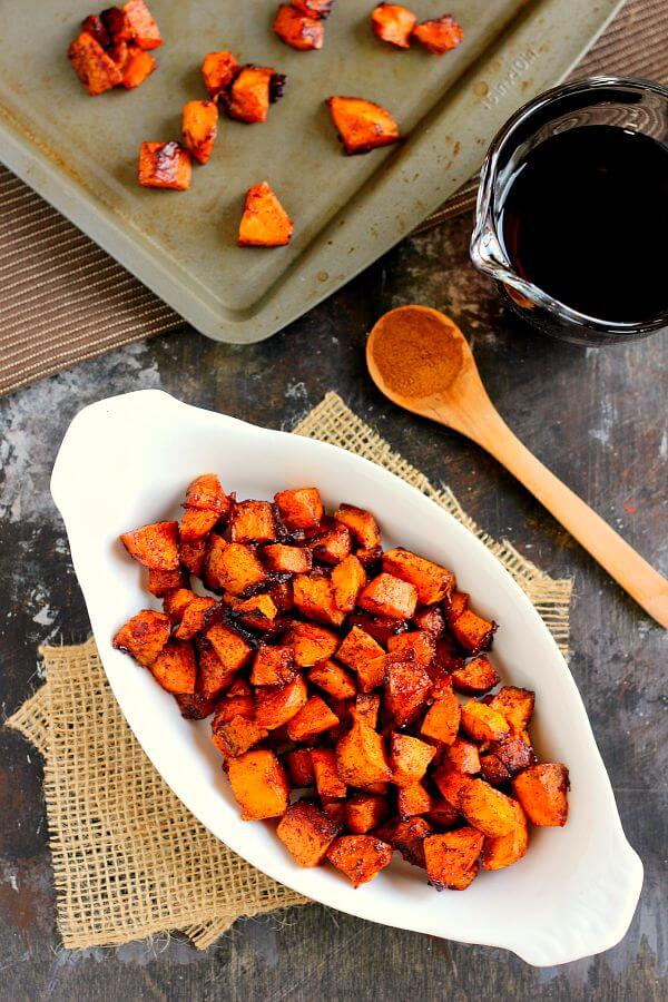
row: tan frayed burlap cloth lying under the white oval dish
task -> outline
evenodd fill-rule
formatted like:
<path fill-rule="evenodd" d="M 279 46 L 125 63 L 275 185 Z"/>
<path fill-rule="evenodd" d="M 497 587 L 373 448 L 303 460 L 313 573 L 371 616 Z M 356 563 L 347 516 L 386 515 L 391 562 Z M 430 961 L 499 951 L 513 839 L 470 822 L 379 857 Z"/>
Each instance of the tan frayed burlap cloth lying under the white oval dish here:
<path fill-rule="evenodd" d="M 568 652 L 570 580 L 554 580 L 465 514 L 328 393 L 296 434 L 363 455 L 474 532 L 527 592 Z M 236 856 L 159 777 L 126 724 L 95 641 L 42 647 L 46 682 L 7 721 L 45 758 L 45 796 L 63 944 L 112 946 L 180 930 L 200 950 L 236 918 L 307 900 Z"/>

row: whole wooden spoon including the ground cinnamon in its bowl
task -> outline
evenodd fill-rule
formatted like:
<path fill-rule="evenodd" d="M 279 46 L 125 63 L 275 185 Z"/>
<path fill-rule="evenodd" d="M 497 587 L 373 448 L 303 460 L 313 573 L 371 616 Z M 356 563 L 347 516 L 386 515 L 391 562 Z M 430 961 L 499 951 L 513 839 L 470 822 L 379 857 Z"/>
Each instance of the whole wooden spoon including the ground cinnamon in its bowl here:
<path fill-rule="evenodd" d="M 513 435 L 489 399 L 456 324 L 429 306 L 392 310 L 369 336 L 366 364 L 393 403 L 453 428 L 503 463 L 668 629 L 668 581 Z"/>

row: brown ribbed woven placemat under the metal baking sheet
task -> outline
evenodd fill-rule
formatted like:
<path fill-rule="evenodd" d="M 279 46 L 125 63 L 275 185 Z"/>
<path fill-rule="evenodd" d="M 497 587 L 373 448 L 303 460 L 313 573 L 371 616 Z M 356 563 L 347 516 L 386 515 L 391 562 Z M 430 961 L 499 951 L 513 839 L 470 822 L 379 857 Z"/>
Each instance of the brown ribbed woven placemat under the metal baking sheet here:
<path fill-rule="evenodd" d="M 668 82 L 667 39 L 667 0 L 629 0 L 574 76 L 609 72 Z M 470 209 L 477 188 L 475 180 L 464 185 L 415 232 Z M 0 394 L 181 324 L 0 166 Z"/>

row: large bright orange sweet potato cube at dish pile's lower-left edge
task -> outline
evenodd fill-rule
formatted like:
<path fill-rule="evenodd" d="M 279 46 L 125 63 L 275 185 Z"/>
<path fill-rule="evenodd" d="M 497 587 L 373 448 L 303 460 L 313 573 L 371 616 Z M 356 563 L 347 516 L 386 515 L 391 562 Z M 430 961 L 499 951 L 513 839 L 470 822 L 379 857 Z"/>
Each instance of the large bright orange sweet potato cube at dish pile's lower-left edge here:
<path fill-rule="evenodd" d="M 255 748 L 230 758 L 228 778 L 244 821 L 281 817 L 287 811 L 289 783 L 274 752 Z"/>

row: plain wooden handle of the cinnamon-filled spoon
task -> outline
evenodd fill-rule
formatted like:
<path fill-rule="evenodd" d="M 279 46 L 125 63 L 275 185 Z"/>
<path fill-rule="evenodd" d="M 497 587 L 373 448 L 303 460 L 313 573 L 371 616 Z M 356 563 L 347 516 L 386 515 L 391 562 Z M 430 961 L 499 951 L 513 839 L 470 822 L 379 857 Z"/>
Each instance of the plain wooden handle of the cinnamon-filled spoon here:
<path fill-rule="evenodd" d="M 544 504 L 638 605 L 668 629 L 668 581 L 522 445 L 490 404 L 465 430 Z"/>

